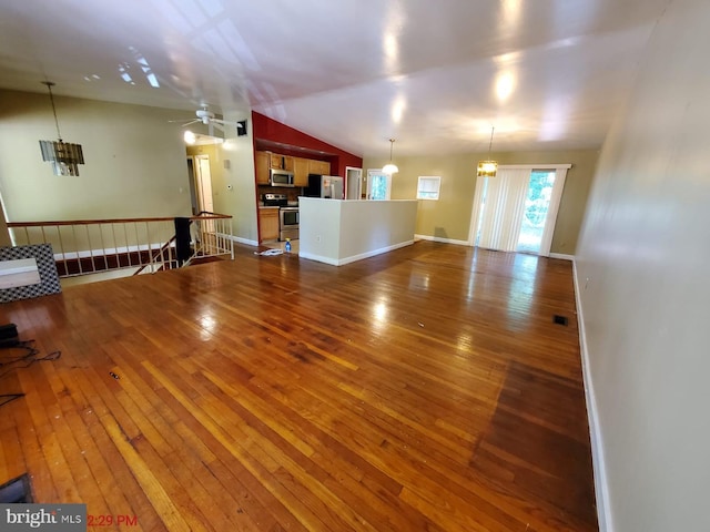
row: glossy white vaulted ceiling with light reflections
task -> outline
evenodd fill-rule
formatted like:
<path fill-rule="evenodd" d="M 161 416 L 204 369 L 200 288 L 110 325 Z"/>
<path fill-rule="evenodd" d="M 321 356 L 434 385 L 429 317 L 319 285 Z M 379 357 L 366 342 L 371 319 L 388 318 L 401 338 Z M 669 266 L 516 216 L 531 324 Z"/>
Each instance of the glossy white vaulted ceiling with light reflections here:
<path fill-rule="evenodd" d="M 669 1 L 0 0 L 0 86 L 251 108 L 366 156 L 491 126 L 494 152 L 596 149 Z"/>

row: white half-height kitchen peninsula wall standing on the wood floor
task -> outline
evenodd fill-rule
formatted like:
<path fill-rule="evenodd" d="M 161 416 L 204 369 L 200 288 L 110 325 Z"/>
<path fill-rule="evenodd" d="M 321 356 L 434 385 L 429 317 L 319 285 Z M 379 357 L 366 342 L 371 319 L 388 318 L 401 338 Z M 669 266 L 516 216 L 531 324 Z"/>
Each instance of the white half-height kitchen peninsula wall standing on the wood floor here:
<path fill-rule="evenodd" d="M 298 256 L 342 266 L 414 244 L 416 200 L 300 197 Z"/>

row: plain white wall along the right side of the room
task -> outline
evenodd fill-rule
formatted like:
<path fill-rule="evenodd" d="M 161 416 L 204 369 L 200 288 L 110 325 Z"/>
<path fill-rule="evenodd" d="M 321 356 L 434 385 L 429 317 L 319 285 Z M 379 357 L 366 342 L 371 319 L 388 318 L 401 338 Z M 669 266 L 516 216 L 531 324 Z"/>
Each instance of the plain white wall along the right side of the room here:
<path fill-rule="evenodd" d="M 710 530 L 708 28 L 707 0 L 669 2 L 578 246 L 602 530 Z"/>

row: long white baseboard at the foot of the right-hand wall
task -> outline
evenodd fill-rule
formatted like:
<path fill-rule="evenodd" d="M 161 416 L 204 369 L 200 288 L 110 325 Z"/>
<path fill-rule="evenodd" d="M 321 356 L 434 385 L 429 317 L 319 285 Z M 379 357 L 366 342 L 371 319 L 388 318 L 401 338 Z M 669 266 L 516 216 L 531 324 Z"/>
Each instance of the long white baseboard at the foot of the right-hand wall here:
<path fill-rule="evenodd" d="M 550 255 L 551 256 L 551 255 Z M 581 299 L 579 293 L 579 279 L 577 277 L 577 263 L 572 257 L 572 279 L 575 282 L 575 303 L 577 305 L 577 324 L 579 329 L 579 350 L 581 352 L 581 374 L 585 382 L 585 399 L 587 401 L 587 419 L 589 421 L 589 437 L 591 441 L 591 463 L 595 477 L 595 498 L 597 501 L 597 520 L 599 532 L 613 532 L 611 521 L 611 507 L 609 504 L 609 484 L 607 482 L 607 467 L 604 459 L 604 441 L 599 426 L 597 411 L 597 398 L 591 382 L 589 366 L 589 351 L 587 350 L 587 334 L 585 331 L 585 318 L 582 316 Z"/>

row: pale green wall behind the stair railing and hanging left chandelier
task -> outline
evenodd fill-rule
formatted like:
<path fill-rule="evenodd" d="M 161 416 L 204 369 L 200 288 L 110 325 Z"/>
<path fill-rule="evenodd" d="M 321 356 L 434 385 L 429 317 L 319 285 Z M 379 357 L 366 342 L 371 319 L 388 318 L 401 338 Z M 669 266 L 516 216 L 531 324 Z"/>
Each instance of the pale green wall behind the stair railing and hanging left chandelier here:
<path fill-rule="evenodd" d="M 40 140 L 55 140 L 47 94 L 0 91 L 0 193 L 11 222 L 190 213 L 185 145 L 190 113 L 55 96 L 64 141 L 81 144 L 77 177 L 52 173 Z"/>

